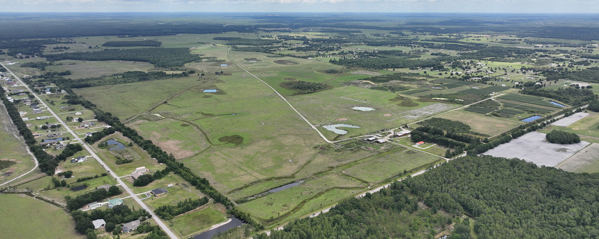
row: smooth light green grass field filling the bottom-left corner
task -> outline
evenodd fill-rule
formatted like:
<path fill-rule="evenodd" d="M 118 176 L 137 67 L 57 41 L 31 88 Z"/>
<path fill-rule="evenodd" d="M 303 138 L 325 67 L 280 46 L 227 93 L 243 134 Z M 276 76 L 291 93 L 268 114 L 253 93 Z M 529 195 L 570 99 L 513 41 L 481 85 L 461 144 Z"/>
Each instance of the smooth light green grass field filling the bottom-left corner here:
<path fill-rule="evenodd" d="M 0 195 L 0 231 L 4 238 L 85 238 L 75 232 L 68 213 L 26 195 Z M 34 216 L 35 215 L 35 216 Z"/>

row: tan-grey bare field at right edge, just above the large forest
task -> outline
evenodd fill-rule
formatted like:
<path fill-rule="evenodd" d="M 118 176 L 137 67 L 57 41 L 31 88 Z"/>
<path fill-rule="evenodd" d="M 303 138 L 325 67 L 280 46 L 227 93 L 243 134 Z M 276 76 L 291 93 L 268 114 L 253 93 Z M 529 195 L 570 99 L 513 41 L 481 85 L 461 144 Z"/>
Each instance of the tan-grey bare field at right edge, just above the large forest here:
<path fill-rule="evenodd" d="M 589 145 L 555 167 L 574 173 L 597 173 L 599 171 L 599 143 Z"/>

